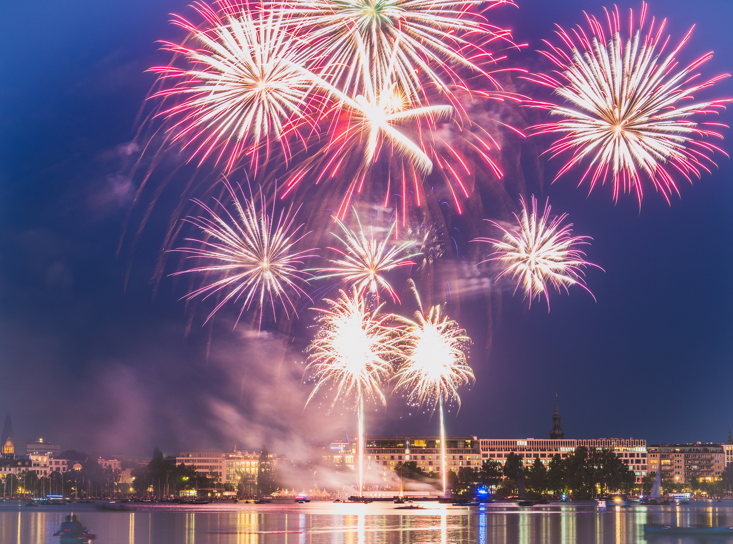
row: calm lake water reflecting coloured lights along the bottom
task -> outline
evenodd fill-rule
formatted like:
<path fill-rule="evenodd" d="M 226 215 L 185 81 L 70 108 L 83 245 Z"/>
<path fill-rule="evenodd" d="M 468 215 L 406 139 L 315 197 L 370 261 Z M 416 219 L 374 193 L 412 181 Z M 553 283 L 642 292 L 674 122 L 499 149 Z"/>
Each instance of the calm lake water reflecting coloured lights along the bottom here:
<path fill-rule="evenodd" d="M 477 508 L 426 502 L 424 510 L 371 504 L 136 504 L 135 512 L 97 512 L 95 504 L 26 507 L 0 503 L 0 543 L 58 543 L 51 535 L 75 513 L 95 544 L 733 544 L 733 537 L 648 537 L 644 523 L 733 526 L 733 501 L 689 506 L 608 507 L 569 502 Z"/>

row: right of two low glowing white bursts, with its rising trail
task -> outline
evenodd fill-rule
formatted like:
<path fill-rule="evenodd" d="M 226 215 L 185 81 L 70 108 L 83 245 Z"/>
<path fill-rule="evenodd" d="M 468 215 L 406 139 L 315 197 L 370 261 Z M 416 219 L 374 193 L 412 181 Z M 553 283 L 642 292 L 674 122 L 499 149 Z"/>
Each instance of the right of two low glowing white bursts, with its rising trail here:
<path fill-rule="evenodd" d="M 471 339 L 455 321 L 447 316 L 441 318 L 439 305 L 430 308 L 427 316 L 420 308 L 415 318 L 415 321 L 402 318 L 405 323 L 401 339 L 402 363 L 394 376 L 397 379 L 395 390 L 406 391 L 408 402 L 419 406 L 428 404 L 432 410 L 437 406 L 440 411 L 441 475 L 445 495 L 448 467 L 443 403 L 455 400 L 460 407 L 458 388 L 474 381 L 474 372 L 465 357 Z"/>

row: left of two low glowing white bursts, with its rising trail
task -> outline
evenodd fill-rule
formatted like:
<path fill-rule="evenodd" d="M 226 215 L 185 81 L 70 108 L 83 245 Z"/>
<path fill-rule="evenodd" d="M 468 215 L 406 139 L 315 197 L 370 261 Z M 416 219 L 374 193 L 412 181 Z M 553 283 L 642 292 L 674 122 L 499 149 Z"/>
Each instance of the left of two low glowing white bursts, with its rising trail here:
<path fill-rule="evenodd" d="M 361 291 L 341 291 L 336 300 L 325 299 L 328 309 L 320 310 L 320 329 L 308 348 L 308 368 L 317 379 L 306 404 L 327 386 L 335 389 L 332 403 L 339 398 L 356 398 L 358 413 L 358 485 L 364 484 L 364 400 L 386 399 L 383 382 L 392 373 L 391 361 L 399 357 L 399 338 L 388 325 L 391 316 L 380 316 L 381 306 L 369 310 Z M 333 406 L 332 404 L 332 406 Z"/>

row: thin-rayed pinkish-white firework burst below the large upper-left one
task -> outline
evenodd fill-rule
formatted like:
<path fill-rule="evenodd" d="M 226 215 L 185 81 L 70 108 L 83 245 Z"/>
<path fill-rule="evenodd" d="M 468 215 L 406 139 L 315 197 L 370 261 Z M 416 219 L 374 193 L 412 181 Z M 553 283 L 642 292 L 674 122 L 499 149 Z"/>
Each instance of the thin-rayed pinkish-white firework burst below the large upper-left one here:
<path fill-rule="evenodd" d="M 216 200 L 223 212 L 218 213 L 201 201 L 194 201 L 204 209 L 205 215 L 185 217 L 185 221 L 199 228 L 201 238 L 186 238 L 195 247 L 180 247 L 174 251 L 187 253 L 188 258 L 202 259 L 204 264 L 176 272 L 179 274 L 202 274 L 205 284 L 185 296 L 193 299 L 203 295 L 204 299 L 220 295 L 216 307 L 207 321 L 227 302 L 241 305 L 239 317 L 254 303 L 259 308 L 259 322 L 265 302 L 269 302 L 276 313 L 276 301 L 284 308 L 288 317 L 296 313 L 295 303 L 307 297 L 299 283 L 310 276 L 303 271 L 303 261 L 313 257 L 312 249 L 295 250 L 295 246 L 306 234 L 298 236 L 302 225 L 295 226 L 298 209 L 280 212 L 277 219 L 273 212 L 265 209 L 265 197 L 257 209 L 254 199 L 242 202 L 234 188 L 225 182 L 232 198 L 231 209 Z M 208 282 L 209 277 L 213 279 Z"/>

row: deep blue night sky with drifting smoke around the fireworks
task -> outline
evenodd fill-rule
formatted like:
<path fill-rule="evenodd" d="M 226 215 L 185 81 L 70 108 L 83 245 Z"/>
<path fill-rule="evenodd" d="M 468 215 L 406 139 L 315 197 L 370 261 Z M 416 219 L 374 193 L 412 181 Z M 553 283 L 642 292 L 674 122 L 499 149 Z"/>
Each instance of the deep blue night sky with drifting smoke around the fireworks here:
<path fill-rule="evenodd" d="M 552 37 L 552 23 L 580 23 L 582 10 L 600 15 L 604 5 L 518 4 L 502 18 L 517 42 L 529 42 L 528 65 L 537 62 L 531 50 L 539 40 Z M 164 281 L 152 299 L 155 240 L 136 253 L 123 291 L 126 261 L 115 250 L 133 186 L 120 156 L 154 81 L 144 70 L 165 62 L 155 41 L 177 36 L 168 14 L 186 10 L 172 0 L 0 7 L 0 411 L 12 412 L 19 437 L 175 452 L 308 444 L 339 438 L 349 421 L 303 412 L 303 390 L 288 390 L 292 384 L 276 389 L 264 377 L 257 386 L 248 361 L 269 357 L 266 337 L 223 327 L 206 362 L 198 326 L 184 338 L 180 289 Z M 673 37 L 696 23 L 683 59 L 712 49 L 706 73 L 731 70 L 729 2 L 652 1 L 649 10 L 669 18 Z M 715 96 L 733 96 L 731 81 Z M 733 149 L 729 141 L 723 148 Z M 671 205 L 648 191 L 641 211 L 634 198 L 614 204 L 607 187 L 590 197 L 572 179 L 546 189 L 553 208 L 594 238 L 589 258 L 605 269 L 588 276 L 597 302 L 574 289 L 554 297 L 548 314 L 505 298 L 493 351 L 474 346 L 477 384 L 464 392 L 458 417 L 449 417 L 449 432 L 547 436 L 558 392 L 567 437 L 726 437 L 733 425 L 733 185 L 731 162 L 718 162 L 712 175 L 680 184 L 682 197 Z M 298 368 L 285 370 L 296 383 Z M 249 380 L 240 390 L 243 376 Z M 380 417 L 372 432 L 433 426 L 404 412 L 396 420 L 399 413 Z M 308 425 L 294 429 L 292 414 Z"/>

